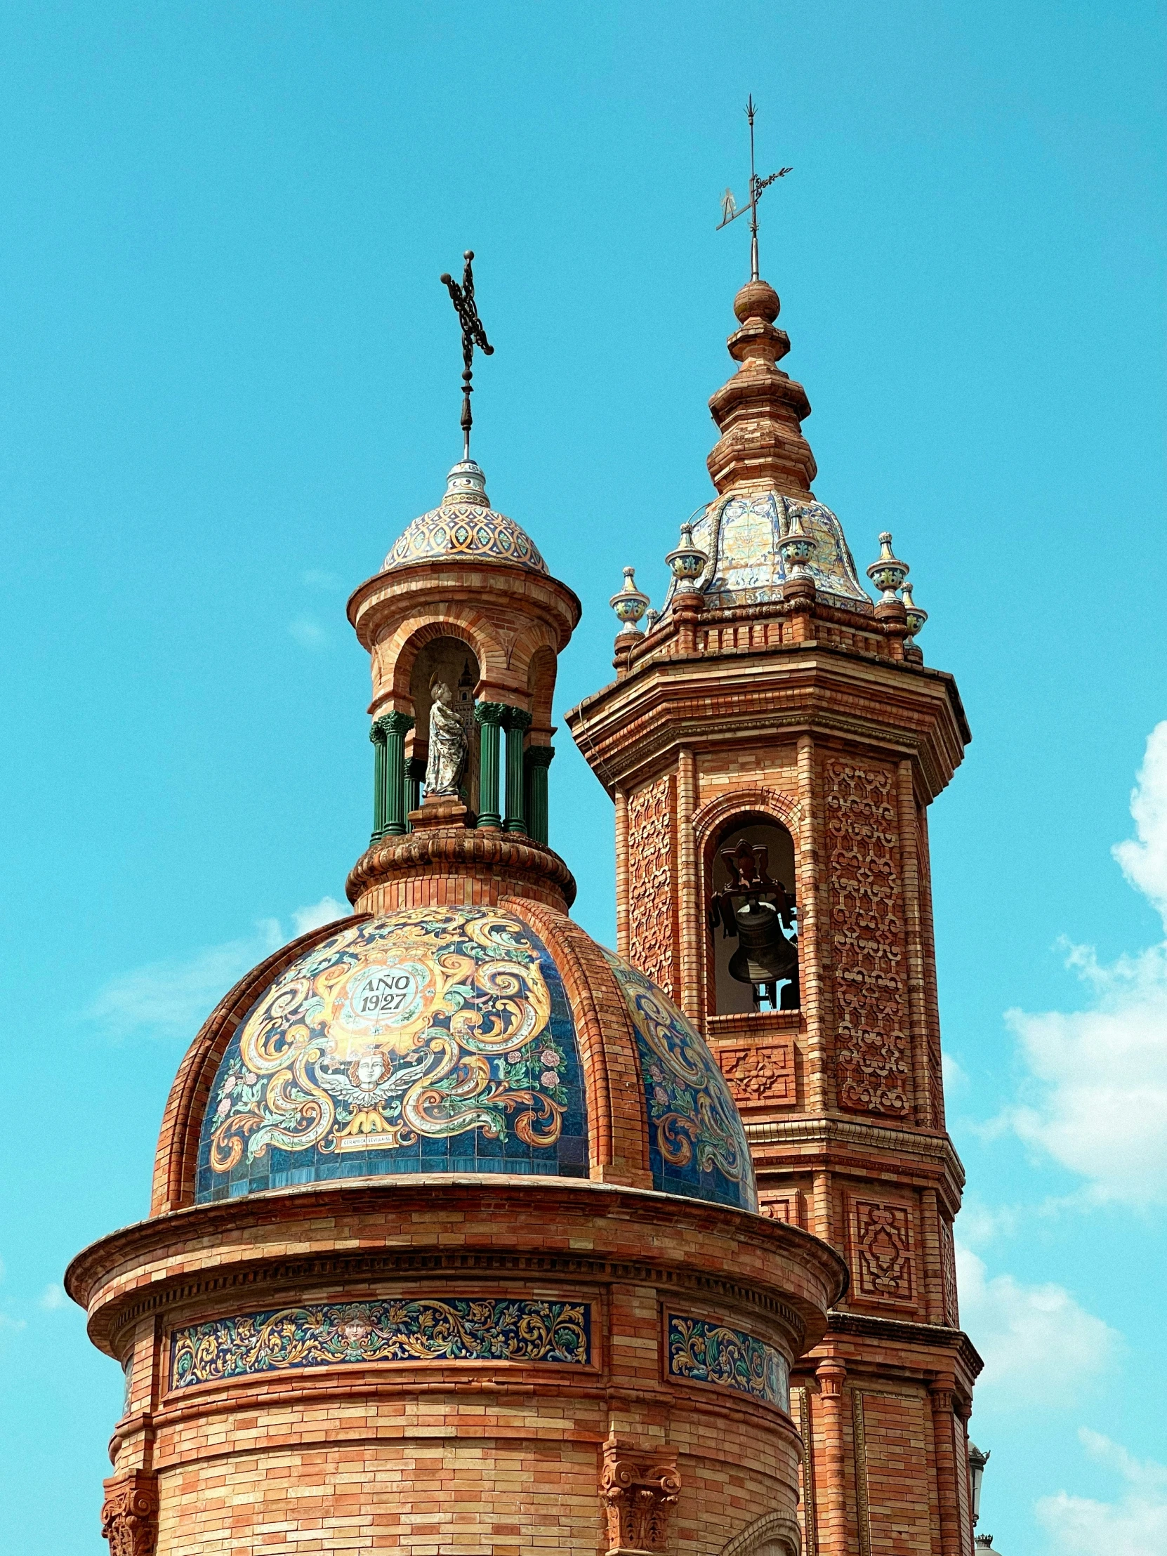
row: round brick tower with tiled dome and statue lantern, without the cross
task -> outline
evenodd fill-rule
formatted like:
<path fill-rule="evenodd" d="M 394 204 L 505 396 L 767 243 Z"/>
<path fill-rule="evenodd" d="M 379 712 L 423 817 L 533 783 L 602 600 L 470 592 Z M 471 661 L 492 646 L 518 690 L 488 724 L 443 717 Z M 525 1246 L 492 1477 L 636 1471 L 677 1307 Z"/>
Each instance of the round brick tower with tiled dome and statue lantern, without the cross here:
<path fill-rule="evenodd" d="M 797 1556 L 789 1376 L 846 1271 L 758 1214 L 700 1033 L 568 916 L 546 776 L 579 604 L 465 461 L 349 615 L 355 912 L 212 1013 L 148 1218 L 68 1271 L 126 1372 L 110 1548 Z"/>

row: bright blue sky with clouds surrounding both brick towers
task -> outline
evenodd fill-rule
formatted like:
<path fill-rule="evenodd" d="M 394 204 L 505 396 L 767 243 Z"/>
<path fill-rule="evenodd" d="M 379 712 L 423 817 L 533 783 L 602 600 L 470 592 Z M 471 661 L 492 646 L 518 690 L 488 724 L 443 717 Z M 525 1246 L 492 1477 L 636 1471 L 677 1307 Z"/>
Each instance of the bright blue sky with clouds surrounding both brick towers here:
<path fill-rule="evenodd" d="M 974 730 L 932 854 L 982 1530 L 1167 1547 L 1164 30 L 1142 0 L 0 9 L 3 1556 L 104 1550 L 120 1376 L 62 1268 L 145 1212 L 187 1041 L 367 837 L 344 601 L 457 456 L 439 272 L 476 249 L 475 451 L 585 605 L 566 708 L 610 675 L 621 566 L 660 601 L 710 493 L 747 92 L 795 170 L 762 272 L 817 495 L 860 568 L 893 531 Z M 610 806 L 557 744 L 552 842 L 610 940 Z"/>

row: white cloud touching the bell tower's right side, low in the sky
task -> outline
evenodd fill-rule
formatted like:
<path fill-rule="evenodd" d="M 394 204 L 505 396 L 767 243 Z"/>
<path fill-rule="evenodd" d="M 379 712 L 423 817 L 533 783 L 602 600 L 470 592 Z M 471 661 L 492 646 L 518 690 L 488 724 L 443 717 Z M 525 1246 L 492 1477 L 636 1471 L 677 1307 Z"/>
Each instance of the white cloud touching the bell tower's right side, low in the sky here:
<path fill-rule="evenodd" d="M 1064 1287 L 990 1276 L 983 1259 L 960 1243 L 957 1285 L 960 1326 L 985 1358 L 977 1388 L 991 1391 L 997 1408 L 1072 1399 L 1122 1344 L 1122 1335 L 1080 1307 Z"/>

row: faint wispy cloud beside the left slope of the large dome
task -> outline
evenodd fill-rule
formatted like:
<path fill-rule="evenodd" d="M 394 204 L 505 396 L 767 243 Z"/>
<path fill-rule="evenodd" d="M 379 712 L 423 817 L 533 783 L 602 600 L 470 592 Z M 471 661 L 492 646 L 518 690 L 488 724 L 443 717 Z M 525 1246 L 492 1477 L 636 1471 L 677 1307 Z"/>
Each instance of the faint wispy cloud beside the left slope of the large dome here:
<path fill-rule="evenodd" d="M 277 951 L 286 940 L 327 924 L 347 912 L 325 896 L 308 907 L 297 907 L 293 935 L 277 918 L 261 918 L 255 934 L 205 946 L 188 957 L 149 962 L 110 979 L 89 1007 L 89 1019 L 110 1038 L 137 1035 L 190 1039 L 244 972 Z"/>

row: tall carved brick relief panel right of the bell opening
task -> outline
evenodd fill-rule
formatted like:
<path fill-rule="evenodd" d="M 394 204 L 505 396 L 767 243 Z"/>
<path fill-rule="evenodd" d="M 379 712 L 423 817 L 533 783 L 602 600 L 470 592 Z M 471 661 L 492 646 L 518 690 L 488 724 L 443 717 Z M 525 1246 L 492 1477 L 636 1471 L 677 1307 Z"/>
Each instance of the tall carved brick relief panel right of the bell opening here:
<path fill-rule="evenodd" d="M 902 1117 L 912 1106 L 895 773 L 826 770 L 839 1103 Z"/>

